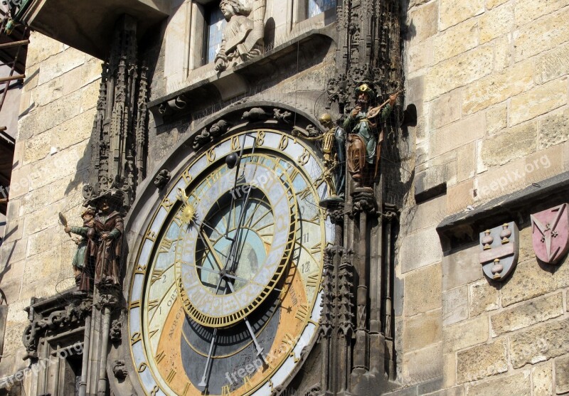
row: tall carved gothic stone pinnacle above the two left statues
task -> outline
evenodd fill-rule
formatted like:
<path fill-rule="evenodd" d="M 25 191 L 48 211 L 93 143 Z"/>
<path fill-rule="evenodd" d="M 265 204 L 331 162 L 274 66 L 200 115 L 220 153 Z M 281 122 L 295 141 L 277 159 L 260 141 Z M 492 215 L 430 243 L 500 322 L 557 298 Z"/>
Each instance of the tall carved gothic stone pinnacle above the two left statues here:
<path fill-rule="evenodd" d="M 102 77 L 93 122 L 90 182 L 85 199 L 111 188 L 124 191 L 124 205 L 134 202 L 146 176 L 147 67 L 137 55 L 137 22 L 124 16 L 117 23 Z"/>

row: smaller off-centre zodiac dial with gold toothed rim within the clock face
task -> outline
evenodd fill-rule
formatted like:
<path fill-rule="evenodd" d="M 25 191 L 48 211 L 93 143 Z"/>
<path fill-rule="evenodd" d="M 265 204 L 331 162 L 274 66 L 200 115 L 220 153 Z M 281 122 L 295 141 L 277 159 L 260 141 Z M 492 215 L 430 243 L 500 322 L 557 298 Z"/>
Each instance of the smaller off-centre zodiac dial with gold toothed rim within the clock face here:
<path fill-rule="evenodd" d="M 181 229 L 176 280 L 184 309 L 204 326 L 227 327 L 265 301 L 294 246 L 297 203 L 289 185 L 262 161 L 219 168 L 199 186 L 196 218 Z M 225 171 L 227 170 L 227 171 Z"/>

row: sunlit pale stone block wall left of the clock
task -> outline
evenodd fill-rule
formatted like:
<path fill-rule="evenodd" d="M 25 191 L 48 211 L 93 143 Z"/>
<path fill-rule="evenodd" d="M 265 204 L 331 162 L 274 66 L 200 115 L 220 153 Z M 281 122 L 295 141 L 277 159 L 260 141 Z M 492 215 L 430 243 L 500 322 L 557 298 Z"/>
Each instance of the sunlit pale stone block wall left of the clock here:
<path fill-rule="evenodd" d="M 58 213 L 80 225 L 88 144 L 99 95 L 101 62 L 32 33 L 22 90 L 0 287 L 9 303 L 0 376 L 27 365 L 23 309 L 32 296 L 73 287 L 75 243 Z"/>

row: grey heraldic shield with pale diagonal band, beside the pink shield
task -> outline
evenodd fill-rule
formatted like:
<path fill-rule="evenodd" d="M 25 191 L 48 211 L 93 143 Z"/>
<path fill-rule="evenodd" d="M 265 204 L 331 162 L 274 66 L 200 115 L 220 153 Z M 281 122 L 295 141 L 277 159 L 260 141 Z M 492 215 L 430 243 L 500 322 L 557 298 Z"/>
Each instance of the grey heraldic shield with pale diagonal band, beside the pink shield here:
<path fill-rule="evenodd" d="M 480 232 L 479 262 L 486 277 L 502 281 L 514 271 L 519 256 L 519 230 L 513 221 Z"/>

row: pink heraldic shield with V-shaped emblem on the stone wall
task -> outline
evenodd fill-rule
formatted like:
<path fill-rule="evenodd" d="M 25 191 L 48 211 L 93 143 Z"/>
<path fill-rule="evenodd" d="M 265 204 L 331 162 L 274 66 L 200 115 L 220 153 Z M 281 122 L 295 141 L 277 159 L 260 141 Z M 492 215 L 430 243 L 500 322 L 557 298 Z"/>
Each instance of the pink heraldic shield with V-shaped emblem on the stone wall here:
<path fill-rule="evenodd" d="M 567 203 L 531 215 L 533 250 L 546 264 L 557 264 L 569 250 Z"/>

